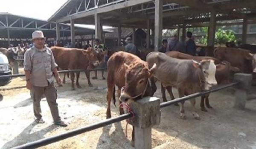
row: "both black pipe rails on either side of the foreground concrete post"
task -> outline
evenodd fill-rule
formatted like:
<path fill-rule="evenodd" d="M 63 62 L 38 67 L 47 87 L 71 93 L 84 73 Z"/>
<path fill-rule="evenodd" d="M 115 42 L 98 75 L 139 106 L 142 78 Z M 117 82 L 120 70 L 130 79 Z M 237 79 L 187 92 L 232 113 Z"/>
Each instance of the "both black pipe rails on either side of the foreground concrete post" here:
<path fill-rule="evenodd" d="M 209 94 L 209 93 L 213 93 L 213 92 L 216 92 L 218 90 L 225 89 L 227 87 L 233 87 L 237 84 L 239 84 L 239 82 L 234 82 L 234 83 L 230 83 L 230 84 L 227 84 L 227 85 L 221 85 L 221 86 L 212 88 L 211 90 L 203 91 L 203 92 L 200 92 L 200 93 L 194 93 L 194 94 L 191 94 L 189 96 L 176 98 L 172 101 L 163 102 L 163 103 L 160 104 L 160 108 L 171 106 L 171 105 L 176 104 L 178 102 L 186 101 L 186 100 L 196 98 L 196 97 L 200 97 L 200 96 L 203 96 L 203 95 L 206 95 L 206 94 Z M 134 113 L 134 114 L 136 115 L 136 113 Z M 82 128 L 79 128 L 79 129 L 74 129 L 74 130 L 71 130 L 69 132 L 65 132 L 61 135 L 55 135 L 53 137 L 44 138 L 44 139 L 34 141 L 34 142 L 31 142 L 31 143 L 26 143 L 26 144 L 23 144 L 21 146 L 17 146 L 14 149 L 30 149 L 30 148 L 45 146 L 47 144 L 54 143 L 54 142 L 57 142 L 57 141 L 61 141 L 61 140 L 64 140 L 66 138 L 70 138 L 70 137 L 73 137 L 75 135 L 79 135 L 79 134 L 84 133 L 84 132 L 88 132 L 88 131 L 91 131 L 91 130 L 94 130 L 94 129 L 98 129 L 100 127 L 105 127 L 109 124 L 113 124 L 113 123 L 116 123 L 116 122 L 119 122 L 119 121 L 122 121 L 122 120 L 125 120 L 125 119 L 128 119 L 128 118 L 131 118 L 131 117 L 132 117 L 131 113 L 120 115 L 120 116 L 117 116 L 116 118 L 107 119 L 105 121 L 102 121 L 102 122 L 99 122 L 99 123 L 96 123 L 96 124 L 88 125 L 86 127 L 82 127 Z"/>

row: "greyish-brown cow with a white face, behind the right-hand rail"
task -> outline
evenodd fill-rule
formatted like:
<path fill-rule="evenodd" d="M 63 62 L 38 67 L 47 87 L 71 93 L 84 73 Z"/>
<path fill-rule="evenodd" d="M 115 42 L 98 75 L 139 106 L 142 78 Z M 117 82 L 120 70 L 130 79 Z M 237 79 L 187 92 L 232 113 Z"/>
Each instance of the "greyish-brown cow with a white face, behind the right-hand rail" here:
<path fill-rule="evenodd" d="M 152 52 L 148 54 L 147 62 L 149 67 L 156 63 L 157 70 L 154 77 L 163 84 L 163 87 L 166 87 L 170 95 L 172 86 L 177 87 L 179 96 L 183 97 L 202 90 L 209 90 L 210 87 L 217 84 L 215 79 L 216 66 L 211 59 L 196 62 Z M 195 109 L 195 98 L 191 99 L 190 102 L 193 107 L 193 116 L 195 119 L 200 119 Z M 185 118 L 183 104 L 184 102 L 179 104 L 180 118 Z"/>

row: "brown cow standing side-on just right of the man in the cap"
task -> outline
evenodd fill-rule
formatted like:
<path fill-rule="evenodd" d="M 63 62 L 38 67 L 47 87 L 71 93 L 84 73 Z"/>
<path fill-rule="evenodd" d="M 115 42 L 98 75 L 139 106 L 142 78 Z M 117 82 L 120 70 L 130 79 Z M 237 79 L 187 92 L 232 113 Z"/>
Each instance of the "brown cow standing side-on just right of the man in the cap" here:
<path fill-rule="evenodd" d="M 90 64 L 94 66 L 99 65 L 99 60 L 96 57 L 95 51 L 92 48 L 87 50 L 77 49 L 77 48 L 62 48 L 62 47 L 51 47 L 55 62 L 58 64 L 62 70 L 75 70 L 75 69 L 84 69 L 85 75 L 88 80 L 89 86 L 93 86 L 90 82 L 90 72 L 87 71 L 87 68 Z M 79 75 L 76 73 L 76 86 L 80 88 L 79 85 Z M 75 90 L 74 87 L 74 73 L 71 73 L 71 89 Z"/>

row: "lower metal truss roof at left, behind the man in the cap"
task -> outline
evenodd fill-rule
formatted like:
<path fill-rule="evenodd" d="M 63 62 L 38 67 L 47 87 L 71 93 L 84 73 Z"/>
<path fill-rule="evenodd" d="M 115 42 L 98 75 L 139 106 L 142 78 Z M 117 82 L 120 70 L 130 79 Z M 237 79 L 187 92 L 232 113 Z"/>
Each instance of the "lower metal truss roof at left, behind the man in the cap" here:
<path fill-rule="evenodd" d="M 61 37 L 70 36 L 70 25 L 60 24 Z M 56 37 L 55 22 L 34 19 L 30 17 L 18 16 L 9 13 L 0 13 L 0 38 L 23 38 L 30 39 L 31 34 L 35 30 L 42 30 L 47 38 Z M 105 33 L 110 33 L 109 30 L 104 30 Z M 77 27 L 75 25 L 76 35 L 95 34 L 95 29 L 86 27 Z"/>

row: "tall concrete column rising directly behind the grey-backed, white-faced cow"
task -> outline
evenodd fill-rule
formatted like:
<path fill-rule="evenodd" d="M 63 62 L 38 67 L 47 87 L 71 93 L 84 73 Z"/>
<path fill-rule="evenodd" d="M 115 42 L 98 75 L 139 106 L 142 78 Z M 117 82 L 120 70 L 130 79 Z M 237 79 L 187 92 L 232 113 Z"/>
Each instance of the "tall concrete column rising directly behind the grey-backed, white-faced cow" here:
<path fill-rule="evenodd" d="M 155 0 L 154 51 L 158 51 L 163 38 L 163 0 Z"/>

